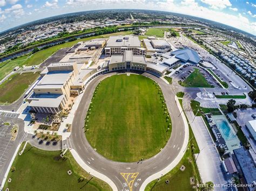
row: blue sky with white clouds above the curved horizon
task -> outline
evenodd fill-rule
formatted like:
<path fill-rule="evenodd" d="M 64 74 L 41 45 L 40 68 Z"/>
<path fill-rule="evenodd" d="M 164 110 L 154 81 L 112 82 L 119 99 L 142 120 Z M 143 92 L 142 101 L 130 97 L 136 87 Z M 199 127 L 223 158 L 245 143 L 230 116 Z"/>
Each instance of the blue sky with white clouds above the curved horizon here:
<path fill-rule="evenodd" d="M 0 32 L 33 20 L 100 9 L 170 11 L 214 20 L 256 35 L 255 0 L 0 0 Z"/>

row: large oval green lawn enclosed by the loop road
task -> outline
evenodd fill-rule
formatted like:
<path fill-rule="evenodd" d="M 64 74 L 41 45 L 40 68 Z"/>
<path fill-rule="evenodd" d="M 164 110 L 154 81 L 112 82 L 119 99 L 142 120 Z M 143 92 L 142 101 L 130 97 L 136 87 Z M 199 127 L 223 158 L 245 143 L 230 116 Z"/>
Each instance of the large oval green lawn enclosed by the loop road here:
<path fill-rule="evenodd" d="M 106 158 L 123 162 L 150 158 L 169 140 L 171 119 L 164 111 L 161 90 L 148 77 L 107 77 L 97 86 L 94 97 L 85 134 Z"/>

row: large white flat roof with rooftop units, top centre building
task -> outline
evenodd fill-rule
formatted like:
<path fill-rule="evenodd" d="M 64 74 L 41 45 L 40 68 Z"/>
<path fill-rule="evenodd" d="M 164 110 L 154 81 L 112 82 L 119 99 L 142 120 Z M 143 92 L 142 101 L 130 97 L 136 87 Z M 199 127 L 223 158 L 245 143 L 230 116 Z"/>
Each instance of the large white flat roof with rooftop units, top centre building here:
<path fill-rule="evenodd" d="M 140 41 L 137 36 L 111 36 L 106 47 L 140 47 Z"/>

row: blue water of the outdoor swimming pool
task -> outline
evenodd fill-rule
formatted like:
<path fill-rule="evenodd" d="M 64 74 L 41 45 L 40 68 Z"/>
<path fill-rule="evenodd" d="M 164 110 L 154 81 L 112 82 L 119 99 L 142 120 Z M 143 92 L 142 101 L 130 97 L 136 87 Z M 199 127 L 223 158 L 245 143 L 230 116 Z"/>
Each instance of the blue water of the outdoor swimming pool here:
<path fill-rule="evenodd" d="M 217 127 L 219 128 L 221 135 L 225 140 L 237 138 L 234 131 L 231 130 L 230 126 L 227 124 L 225 119 L 217 119 L 214 121 Z"/>

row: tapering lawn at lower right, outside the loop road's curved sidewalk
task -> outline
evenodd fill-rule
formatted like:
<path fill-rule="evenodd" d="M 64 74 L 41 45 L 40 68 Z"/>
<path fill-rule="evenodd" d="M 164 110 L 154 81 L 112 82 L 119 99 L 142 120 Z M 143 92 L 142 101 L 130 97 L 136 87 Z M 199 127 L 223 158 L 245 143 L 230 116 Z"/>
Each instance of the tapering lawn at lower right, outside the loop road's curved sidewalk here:
<path fill-rule="evenodd" d="M 190 178 L 194 177 L 196 183 L 200 182 L 198 168 L 193 157 L 193 154 L 199 153 L 199 148 L 192 129 L 190 125 L 188 126 L 190 128 L 190 143 L 188 143 L 187 148 L 189 149 L 187 149 L 179 164 L 169 173 L 161 177 L 159 181 L 153 180 L 150 182 L 145 190 L 194 190 L 190 184 Z M 180 171 L 179 168 L 181 165 L 186 167 L 185 171 Z M 170 183 L 165 183 L 166 180 L 169 180 Z"/>

